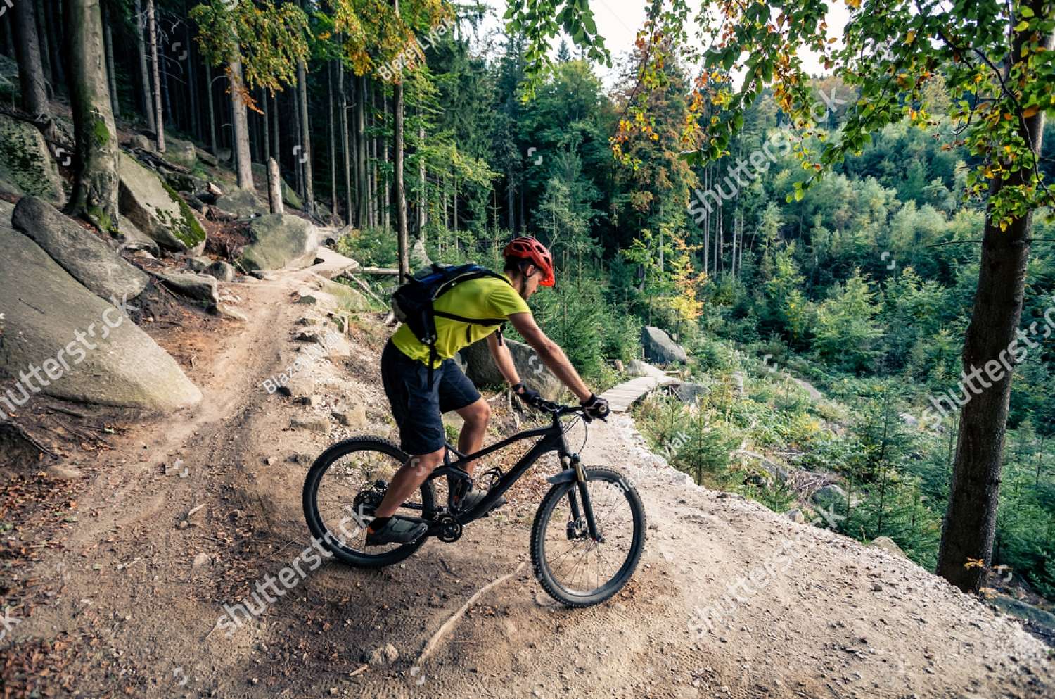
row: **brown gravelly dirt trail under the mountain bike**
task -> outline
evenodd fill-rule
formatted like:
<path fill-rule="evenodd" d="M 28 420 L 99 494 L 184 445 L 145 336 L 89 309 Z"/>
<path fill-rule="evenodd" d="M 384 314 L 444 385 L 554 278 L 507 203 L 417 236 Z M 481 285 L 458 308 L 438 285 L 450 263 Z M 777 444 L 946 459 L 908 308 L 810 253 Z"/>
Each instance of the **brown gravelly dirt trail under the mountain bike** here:
<path fill-rule="evenodd" d="M 316 404 L 262 388 L 303 353 L 299 333 L 332 326 L 294 303 L 305 280 L 232 286 L 249 322 L 197 362 L 199 409 L 143 423 L 95 465 L 65 551 L 37 566 L 54 603 L 14 638 L 68 644 L 54 696 L 1052 696 L 1047 648 L 1016 624 L 906 560 L 687 484 L 626 417 L 592 427 L 583 452 L 636 483 L 650 523 L 637 573 L 608 604 L 554 606 L 523 572 L 414 664 L 476 590 L 526 561 L 548 464 L 457 544 L 430 541 L 377 572 L 326 562 L 227 636 L 224 605 L 308 545 L 310 460 L 351 433 L 390 430 L 377 367 L 386 330 L 369 316 L 353 321 L 347 356 L 308 360 L 290 383 Z M 293 418 L 307 422 L 291 429 Z M 176 459 L 186 476 L 162 475 Z M 365 662 L 387 643 L 395 663 Z"/>

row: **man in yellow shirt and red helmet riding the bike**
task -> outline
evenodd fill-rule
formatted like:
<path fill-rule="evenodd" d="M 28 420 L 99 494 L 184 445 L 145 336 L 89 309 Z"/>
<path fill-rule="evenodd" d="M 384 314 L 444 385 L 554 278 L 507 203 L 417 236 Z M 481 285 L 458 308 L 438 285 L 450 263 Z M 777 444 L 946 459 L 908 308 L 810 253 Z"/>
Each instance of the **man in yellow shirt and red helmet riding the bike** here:
<path fill-rule="evenodd" d="M 502 256 L 505 258 L 504 279 L 481 277 L 460 282 L 440 296 L 434 307 L 437 311 L 463 318 L 509 319 L 538 353 L 542 363 L 579 398 L 588 414 L 606 416 L 608 401 L 587 388 L 564 352 L 535 323 L 525 303 L 540 285 L 553 286 L 553 256 L 530 235 L 513 240 L 505 246 Z M 501 341 L 501 334 L 495 333 L 497 327 L 437 317 L 436 354 L 439 360 L 433 367 L 431 384 L 427 365 L 429 348 L 414 336 L 409 327 L 402 325 L 385 345 L 381 354 L 381 377 L 399 427 L 400 448 L 411 457 L 388 484 L 384 499 L 367 528 L 367 545 L 407 544 L 427 530 L 422 523 L 394 515 L 428 474 L 443 462 L 446 440 L 442 413 L 455 411 L 465 420 L 458 437 L 460 452 L 471 454 L 483 446 L 491 407 L 452 359 L 455 353 L 486 337 L 495 364 L 517 395 L 526 402 L 538 398 L 538 393 L 520 380 L 509 346 Z M 474 468 L 475 464 L 465 465 L 469 475 Z M 483 492 L 469 491 L 461 496 L 459 506 L 472 508 L 484 496 Z M 499 498 L 494 507 L 504 503 L 504 497 Z"/>

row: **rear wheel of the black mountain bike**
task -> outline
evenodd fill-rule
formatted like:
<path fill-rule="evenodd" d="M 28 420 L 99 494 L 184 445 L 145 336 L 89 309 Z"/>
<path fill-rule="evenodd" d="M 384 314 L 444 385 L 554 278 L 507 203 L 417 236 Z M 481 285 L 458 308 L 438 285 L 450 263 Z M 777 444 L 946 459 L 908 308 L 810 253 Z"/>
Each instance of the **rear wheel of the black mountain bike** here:
<path fill-rule="evenodd" d="M 366 527 L 388 483 L 409 457 L 396 445 L 373 437 L 352 437 L 323 452 L 304 480 L 304 518 L 322 546 L 357 568 L 382 568 L 406 559 L 425 543 L 366 546 Z M 426 480 L 418 497 L 404 503 L 397 515 L 431 518 L 436 495 Z"/>

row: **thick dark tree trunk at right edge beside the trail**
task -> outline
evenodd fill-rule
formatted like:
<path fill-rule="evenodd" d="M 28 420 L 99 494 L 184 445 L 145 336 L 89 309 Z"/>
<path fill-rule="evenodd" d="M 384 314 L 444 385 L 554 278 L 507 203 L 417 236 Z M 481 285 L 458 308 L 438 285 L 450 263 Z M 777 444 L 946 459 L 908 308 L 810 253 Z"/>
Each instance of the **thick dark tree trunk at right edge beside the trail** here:
<path fill-rule="evenodd" d="M 1043 14 L 1041 0 L 1029 4 L 1035 13 Z M 1031 37 L 1032 30 L 1016 32 L 1011 56 L 1017 60 L 1023 45 L 1032 41 Z M 1051 50 L 1051 36 L 1047 37 L 1046 45 Z M 1043 127 L 1043 111 L 1019 121 L 1019 132 L 1036 154 L 1040 153 Z M 1008 180 L 994 180 L 990 185 L 978 288 L 963 342 L 963 367 L 967 373 L 992 362 L 1009 364 L 1015 361 L 1009 356 L 1015 354 L 1011 347 L 1018 343 L 1016 329 L 1022 315 L 1033 212 L 1027 211 L 1013 219 L 1008 229 L 1001 231 L 992 202 L 1001 189 L 1021 187 L 1029 176 L 1030 172 L 1021 168 L 1012 172 Z M 990 388 L 971 397 L 960 414 L 937 573 L 964 591 L 977 591 L 982 587 L 992 563 L 1011 374 L 1005 371 L 1000 381 L 994 381 Z M 966 393 L 967 389 L 963 391 Z M 972 561 L 979 561 L 984 566 L 967 567 Z"/>

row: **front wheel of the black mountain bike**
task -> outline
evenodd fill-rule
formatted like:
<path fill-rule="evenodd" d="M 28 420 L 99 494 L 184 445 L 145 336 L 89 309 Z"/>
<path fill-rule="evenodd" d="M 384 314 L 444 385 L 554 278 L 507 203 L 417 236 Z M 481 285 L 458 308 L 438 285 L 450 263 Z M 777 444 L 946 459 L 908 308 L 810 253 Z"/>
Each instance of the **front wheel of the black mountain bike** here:
<path fill-rule="evenodd" d="M 561 604 L 589 607 L 608 600 L 630 581 L 645 548 L 645 506 L 618 471 L 586 469 L 587 479 L 553 486 L 532 527 L 535 578 Z M 598 537 L 589 532 L 582 487 Z"/>

